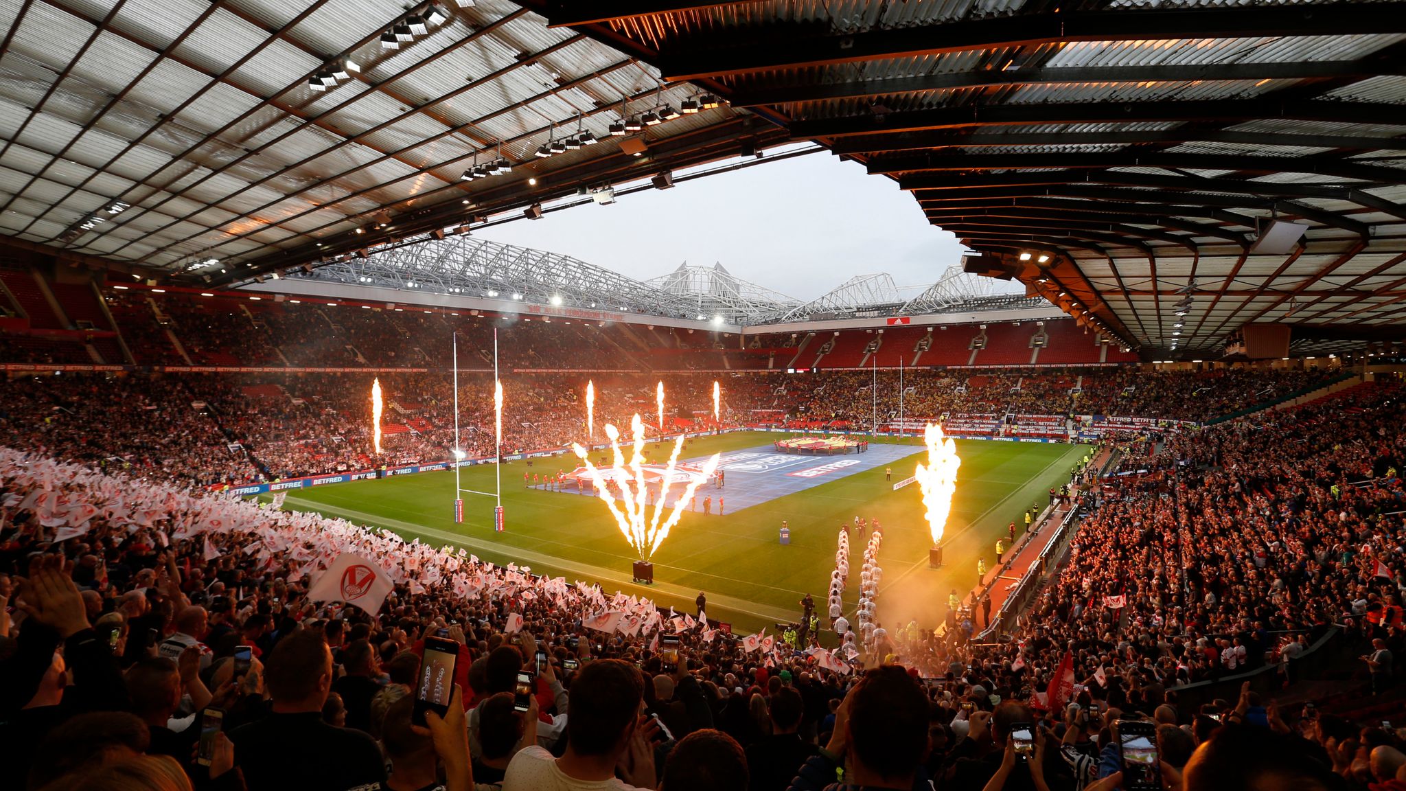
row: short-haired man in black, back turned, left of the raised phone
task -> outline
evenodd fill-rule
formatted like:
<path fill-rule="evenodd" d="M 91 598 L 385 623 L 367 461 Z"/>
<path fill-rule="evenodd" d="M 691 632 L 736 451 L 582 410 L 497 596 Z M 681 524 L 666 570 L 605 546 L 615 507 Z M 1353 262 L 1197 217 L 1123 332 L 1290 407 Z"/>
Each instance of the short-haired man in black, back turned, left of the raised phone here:
<path fill-rule="evenodd" d="M 332 691 L 332 652 L 321 635 L 298 629 L 278 640 L 264 681 L 273 712 L 229 733 L 249 791 L 347 791 L 385 783 L 374 739 L 322 722 L 322 704 Z"/>

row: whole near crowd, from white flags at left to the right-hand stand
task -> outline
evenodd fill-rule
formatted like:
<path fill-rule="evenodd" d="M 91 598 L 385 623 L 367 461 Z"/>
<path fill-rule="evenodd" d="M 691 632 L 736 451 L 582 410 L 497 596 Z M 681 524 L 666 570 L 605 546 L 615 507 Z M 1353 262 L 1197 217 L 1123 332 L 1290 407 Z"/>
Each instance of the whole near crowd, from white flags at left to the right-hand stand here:
<path fill-rule="evenodd" d="M 1295 716 L 1249 690 L 1182 711 L 1174 690 L 1288 659 L 1333 624 L 1381 640 L 1367 659 L 1386 673 L 1400 650 L 1402 522 L 1381 517 L 1403 494 L 1398 393 L 1173 439 L 1164 452 L 1191 464 L 1105 495 L 1011 646 L 876 626 L 858 653 L 0 450 L 0 771 L 80 791 L 810 791 L 839 771 L 846 788 L 1107 791 L 1133 787 L 1154 750 L 1140 787 L 1406 781 L 1400 735 L 1381 723 Z M 333 571 L 347 553 L 388 577 L 384 602 L 340 601 L 361 597 Z M 876 590 L 869 566 L 860 584 Z M 1295 642 L 1275 653 L 1279 629 Z M 446 642 L 447 705 L 422 723 L 423 656 Z M 918 645 L 927 662 L 905 656 Z"/>

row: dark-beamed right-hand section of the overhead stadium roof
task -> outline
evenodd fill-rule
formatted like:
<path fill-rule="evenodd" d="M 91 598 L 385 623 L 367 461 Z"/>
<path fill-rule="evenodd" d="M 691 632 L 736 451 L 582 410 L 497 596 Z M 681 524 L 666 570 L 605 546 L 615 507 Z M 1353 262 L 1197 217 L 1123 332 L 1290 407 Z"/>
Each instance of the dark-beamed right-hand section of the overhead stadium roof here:
<path fill-rule="evenodd" d="M 617 0 L 544 13 L 866 163 L 1125 342 L 1202 356 L 1256 321 L 1289 322 L 1301 342 L 1403 332 L 1406 4 Z M 1274 220 L 1305 225 L 1302 243 L 1274 246 Z M 1258 235 L 1271 238 L 1256 248 Z"/>

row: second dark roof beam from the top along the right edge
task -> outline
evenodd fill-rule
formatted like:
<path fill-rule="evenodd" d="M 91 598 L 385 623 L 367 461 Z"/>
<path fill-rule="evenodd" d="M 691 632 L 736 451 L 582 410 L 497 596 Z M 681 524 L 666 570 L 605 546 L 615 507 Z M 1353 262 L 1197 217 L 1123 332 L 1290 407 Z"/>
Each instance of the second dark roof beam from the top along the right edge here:
<path fill-rule="evenodd" d="M 1402 73 L 1402 63 L 1361 61 L 1303 61 L 1278 63 L 1220 63 L 1195 66 L 1047 66 L 1040 69 L 973 69 L 942 75 L 922 75 L 889 80 L 853 80 L 848 83 L 803 83 L 787 87 L 740 89 L 728 99 L 734 106 L 759 107 L 796 101 L 832 101 L 868 99 L 900 93 L 953 90 L 967 87 L 1002 87 L 1059 83 L 1125 82 L 1208 82 L 1208 80 L 1312 80 L 1331 77 L 1371 77 Z"/>

